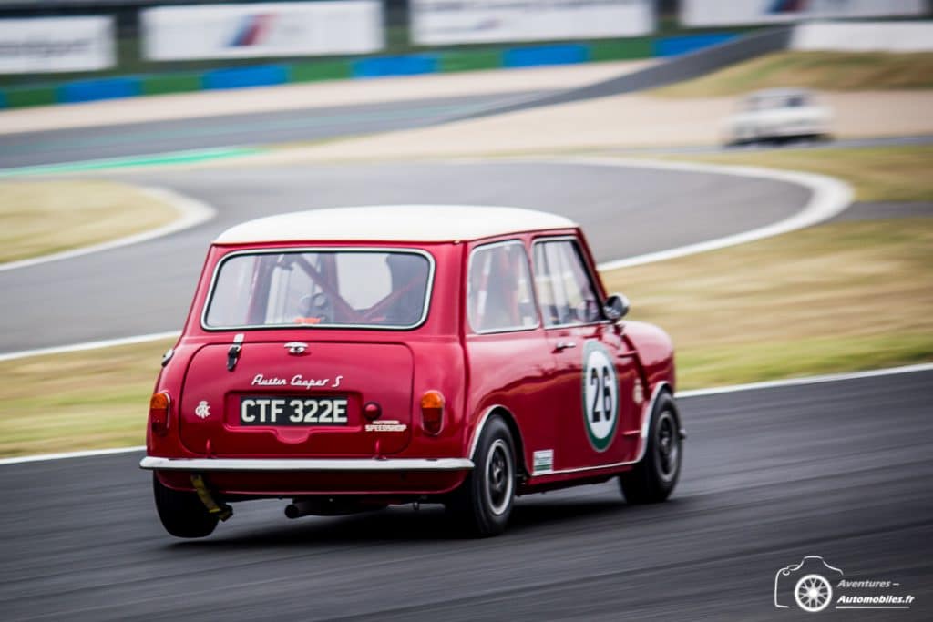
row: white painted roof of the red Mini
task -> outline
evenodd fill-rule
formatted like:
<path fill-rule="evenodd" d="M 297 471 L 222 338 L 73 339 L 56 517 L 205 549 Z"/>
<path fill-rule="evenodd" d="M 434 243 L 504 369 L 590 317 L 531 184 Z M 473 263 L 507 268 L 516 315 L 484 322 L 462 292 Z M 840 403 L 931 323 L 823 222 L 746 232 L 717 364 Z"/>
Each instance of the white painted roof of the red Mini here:
<path fill-rule="evenodd" d="M 453 242 L 520 231 L 574 228 L 556 214 L 476 205 L 376 205 L 280 214 L 221 233 L 217 244 L 255 242 Z"/>

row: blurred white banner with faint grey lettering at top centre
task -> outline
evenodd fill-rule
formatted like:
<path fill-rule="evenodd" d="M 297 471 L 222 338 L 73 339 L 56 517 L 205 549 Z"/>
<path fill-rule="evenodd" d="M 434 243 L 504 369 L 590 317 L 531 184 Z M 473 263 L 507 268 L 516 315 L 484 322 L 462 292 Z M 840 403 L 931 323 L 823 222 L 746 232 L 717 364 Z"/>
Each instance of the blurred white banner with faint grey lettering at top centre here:
<path fill-rule="evenodd" d="M 411 0 L 421 46 L 648 35 L 653 0 Z"/>

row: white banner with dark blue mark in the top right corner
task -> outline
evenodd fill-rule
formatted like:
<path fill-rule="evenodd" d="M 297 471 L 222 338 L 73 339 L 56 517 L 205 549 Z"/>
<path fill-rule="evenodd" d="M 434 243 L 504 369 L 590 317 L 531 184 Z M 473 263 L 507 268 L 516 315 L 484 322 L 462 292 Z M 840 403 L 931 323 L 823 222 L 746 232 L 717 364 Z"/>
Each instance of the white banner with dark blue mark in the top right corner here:
<path fill-rule="evenodd" d="M 923 15 L 926 0 L 681 0 L 685 26 Z"/>

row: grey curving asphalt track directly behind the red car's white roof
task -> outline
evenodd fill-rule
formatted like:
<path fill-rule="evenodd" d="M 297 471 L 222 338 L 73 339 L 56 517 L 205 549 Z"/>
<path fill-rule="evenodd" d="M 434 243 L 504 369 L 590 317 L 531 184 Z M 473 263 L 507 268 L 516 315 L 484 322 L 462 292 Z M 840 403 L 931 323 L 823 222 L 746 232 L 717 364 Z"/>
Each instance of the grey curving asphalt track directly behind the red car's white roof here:
<path fill-rule="evenodd" d="M 217 217 L 150 242 L 0 271 L 0 352 L 179 329 L 209 242 L 262 215 L 391 203 L 526 207 L 576 220 L 606 261 L 777 222 L 800 211 L 810 192 L 732 175 L 531 161 L 230 166 L 114 178 L 206 201 Z"/>

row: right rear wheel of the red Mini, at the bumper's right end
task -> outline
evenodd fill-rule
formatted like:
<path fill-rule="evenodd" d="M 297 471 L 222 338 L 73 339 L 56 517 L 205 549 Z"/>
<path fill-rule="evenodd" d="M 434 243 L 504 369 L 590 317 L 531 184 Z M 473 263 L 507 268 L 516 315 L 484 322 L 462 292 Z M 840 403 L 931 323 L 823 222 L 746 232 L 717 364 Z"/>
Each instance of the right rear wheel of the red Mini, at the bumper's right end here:
<path fill-rule="evenodd" d="M 470 535 L 487 537 L 506 530 L 515 502 L 515 442 L 501 417 L 490 417 L 480 435 L 475 465 L 453 493 L 447 509 Z"/>

